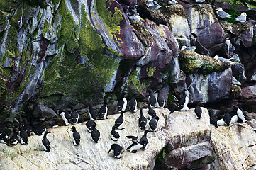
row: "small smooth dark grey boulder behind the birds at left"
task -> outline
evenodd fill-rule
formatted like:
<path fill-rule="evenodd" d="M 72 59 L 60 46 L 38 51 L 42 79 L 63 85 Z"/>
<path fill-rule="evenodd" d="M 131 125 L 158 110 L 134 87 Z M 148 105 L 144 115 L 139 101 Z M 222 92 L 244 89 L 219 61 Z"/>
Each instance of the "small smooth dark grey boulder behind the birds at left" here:
<path fill-rule="evenodd" d="M 47 106 L 38 105 L 35 107 L 35 110 L 33 111 L 33 117 L 34 118 L 55 118 L 57 117 L 57 114 L 55 111 L 52 110 L 52 108 L 48 108 Z"/>

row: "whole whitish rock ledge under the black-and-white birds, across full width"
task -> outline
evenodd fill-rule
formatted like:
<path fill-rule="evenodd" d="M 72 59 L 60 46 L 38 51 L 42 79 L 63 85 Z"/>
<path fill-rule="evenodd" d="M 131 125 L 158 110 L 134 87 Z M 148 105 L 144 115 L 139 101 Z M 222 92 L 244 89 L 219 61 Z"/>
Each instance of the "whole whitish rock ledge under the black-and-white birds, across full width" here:
<path fill-rule="evenodd" d="M 101 132 L 98 143 L 91 140 L 86 122 L 74 125 L 82 137 L 79 146 L 72 143 L 72 125 L 49 128 L 50 152 L 43 151 L 43 136 L 30 136 L 28 145 L 1 144 L 0 169 L 230 169 L 232 162 L 232 169 L 255 168 L 255 120 L 214 128 L 206 108 L 201 119 L 196 119 L 194 108 L 173 113 L 167 108 L 155 111 L 160 120 L 157 131 L 147 135 L 148 149 L 137 153 L 126 150 L 131 144 L 126 135 L 143 135 L 138 128 L 140 112 L 127 112 L 125 129 L 119 131 L 117 142 L 111 140 L 109 133 L 118 115 L 96 120 Z M 143 113 L 148 115 L 145 109 Z M 121 159 L 108 154 L 113 143 L 125 149 Z"/>

